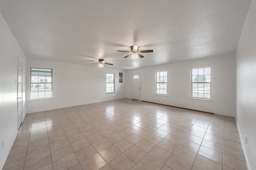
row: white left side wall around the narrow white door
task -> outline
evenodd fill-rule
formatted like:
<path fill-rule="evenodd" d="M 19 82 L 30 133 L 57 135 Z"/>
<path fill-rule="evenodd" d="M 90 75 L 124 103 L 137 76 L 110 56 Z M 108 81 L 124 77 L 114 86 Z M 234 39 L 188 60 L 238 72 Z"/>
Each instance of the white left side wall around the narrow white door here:
<path fill-rule="evenodd" d="M 0 14 L 0 169 L 10 152 L 18 132 L 17 84 L 18 56 L 23 61 L 23 113 L 26 113 L 25 72 L 26 57 Z M 26 114 L 23 114 L 22 120 Z M 2 149 L 1 144 L 4 141 Z"/>

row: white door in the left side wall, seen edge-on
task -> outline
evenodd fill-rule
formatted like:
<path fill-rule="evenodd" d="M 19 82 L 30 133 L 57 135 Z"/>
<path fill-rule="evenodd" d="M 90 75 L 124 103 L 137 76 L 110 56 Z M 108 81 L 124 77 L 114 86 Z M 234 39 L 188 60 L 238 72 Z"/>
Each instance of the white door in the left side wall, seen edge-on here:
<path fill-rule="evenodd" d="M 17 78 L 17 103 L 18 103 L 18 128 L 22 122 L 22 61 L 18 58 L 18 78 Z"/>

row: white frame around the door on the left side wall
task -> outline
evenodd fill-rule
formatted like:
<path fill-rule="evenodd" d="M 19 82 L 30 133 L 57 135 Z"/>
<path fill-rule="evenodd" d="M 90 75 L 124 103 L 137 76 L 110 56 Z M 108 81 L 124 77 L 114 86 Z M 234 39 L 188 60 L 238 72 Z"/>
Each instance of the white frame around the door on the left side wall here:
<path fill-rule="evenodd" d="M 21 63 L 21 122 L 19 122 L 19 62 Z M 22 116 L 23 116 L 23 61 L 22 59 L 20 59 L 20 57 L 18 56 L 18 69 L 17 69 L 17 79 L 16 79 L 16 83 L 17 83 L 17 128 L 20 128 L 20 125 L 22 123 Z"/>

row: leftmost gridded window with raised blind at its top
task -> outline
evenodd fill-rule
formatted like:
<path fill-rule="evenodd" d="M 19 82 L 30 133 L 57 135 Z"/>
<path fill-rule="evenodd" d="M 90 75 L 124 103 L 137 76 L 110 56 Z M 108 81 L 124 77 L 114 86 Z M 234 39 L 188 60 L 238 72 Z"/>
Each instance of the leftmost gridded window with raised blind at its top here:
<path fill-rule="evenodd" d="M 52 98 L 52 69 L 30 69 L 30 99 Z"/>

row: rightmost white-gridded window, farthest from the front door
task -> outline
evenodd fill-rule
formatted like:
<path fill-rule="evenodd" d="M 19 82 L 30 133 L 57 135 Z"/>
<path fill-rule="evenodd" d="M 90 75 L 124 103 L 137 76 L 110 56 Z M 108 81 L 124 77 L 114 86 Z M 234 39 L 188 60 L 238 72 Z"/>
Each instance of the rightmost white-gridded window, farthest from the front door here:
<path fill-rule="evenodd" d="M 211 67 L 191 68 L 191 97 L 211 98 Z"/>

